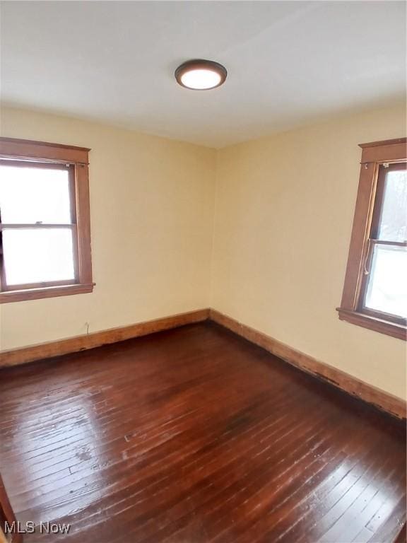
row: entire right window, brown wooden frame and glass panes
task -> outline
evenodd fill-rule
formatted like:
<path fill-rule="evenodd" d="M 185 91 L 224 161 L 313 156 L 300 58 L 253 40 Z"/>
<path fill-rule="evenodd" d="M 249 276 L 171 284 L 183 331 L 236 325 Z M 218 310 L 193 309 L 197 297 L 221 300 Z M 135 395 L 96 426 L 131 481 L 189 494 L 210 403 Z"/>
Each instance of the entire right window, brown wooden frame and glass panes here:
<path fill-rule="evenodd" d="M 406 139 L 360 147 L 358 198 L 339 318 L 406 339 Z"/>

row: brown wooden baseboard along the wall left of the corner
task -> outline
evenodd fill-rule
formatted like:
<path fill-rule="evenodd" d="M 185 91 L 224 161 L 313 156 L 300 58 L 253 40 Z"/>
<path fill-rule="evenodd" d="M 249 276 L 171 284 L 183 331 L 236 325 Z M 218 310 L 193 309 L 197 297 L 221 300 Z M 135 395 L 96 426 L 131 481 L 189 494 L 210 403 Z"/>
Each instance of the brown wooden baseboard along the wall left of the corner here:
<path fill-rule="evenodd" d="M 201 322 L 208 319 L 208 317 L 209 310 L 200 309 L 189 311 L 188 313 L 171 315 L 162 319 L 138 322 L 135 325 L 111 328 L 83 336 L 69 337 L 60 341 L 51 341 L 49 343 L 23 347 L 22 349 L 2 351 L 0 352 L 0 368 L 84 351 L 85 349 L 93 349 L 94 347 L 116 343 L 117 341 L 146 336 L 154 332 L 162 332 L 163 330 L 190 325 L 193 322 Z"/>

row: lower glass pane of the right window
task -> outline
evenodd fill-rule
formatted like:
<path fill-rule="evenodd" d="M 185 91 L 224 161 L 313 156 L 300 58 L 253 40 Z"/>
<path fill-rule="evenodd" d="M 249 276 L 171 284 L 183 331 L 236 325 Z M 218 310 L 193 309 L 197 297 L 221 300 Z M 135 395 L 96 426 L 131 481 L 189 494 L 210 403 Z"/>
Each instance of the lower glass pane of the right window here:
<path fill-rule="evenodd" d="M 407 317 L 407 250 L 374 245 L 365 306 Z"/>

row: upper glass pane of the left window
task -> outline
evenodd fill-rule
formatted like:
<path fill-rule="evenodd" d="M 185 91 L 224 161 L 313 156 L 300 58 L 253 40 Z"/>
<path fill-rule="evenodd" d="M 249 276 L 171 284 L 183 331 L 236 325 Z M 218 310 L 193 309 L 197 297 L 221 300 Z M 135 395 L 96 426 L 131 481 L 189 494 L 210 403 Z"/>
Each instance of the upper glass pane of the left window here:
<path fill-rule="evenodd" d="M 69 171 L 0 165 L 1 222 L 71 223 Z"/>

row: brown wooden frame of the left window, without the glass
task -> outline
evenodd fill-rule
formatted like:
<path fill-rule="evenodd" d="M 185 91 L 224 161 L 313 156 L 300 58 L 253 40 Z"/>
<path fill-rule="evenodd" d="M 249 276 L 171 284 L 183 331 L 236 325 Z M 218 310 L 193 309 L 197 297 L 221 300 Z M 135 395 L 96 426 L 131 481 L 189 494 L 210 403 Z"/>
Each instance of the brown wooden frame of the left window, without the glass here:
<path fill-rule="evenodd" d="M 92 257 L 90 249 L 90 206 L 88 153 L 85 147 L 49 144 L 44 141 L 0 138 L 0 162 L 18 167 L 69 168 L 71 197 L 70 224 L 14 224 L 6 228 L 71 228 L 75 279 L 7 286 L 4 259 L 0 254 L 0 303 L 69 296 L 93 291 Z M 0 223 L 0 243 L 3 225 Z"/>

